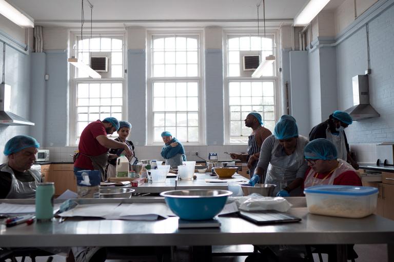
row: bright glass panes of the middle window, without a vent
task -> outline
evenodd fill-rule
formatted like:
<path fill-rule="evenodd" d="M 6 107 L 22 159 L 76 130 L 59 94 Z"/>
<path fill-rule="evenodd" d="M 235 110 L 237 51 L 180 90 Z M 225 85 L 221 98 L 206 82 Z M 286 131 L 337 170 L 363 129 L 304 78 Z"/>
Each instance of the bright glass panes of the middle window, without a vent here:
<path fill-rule="evenodd" d="M 201 143 L 200 35 L 152 35 L 149 143 L 166 130 L 184 143 Z"/>

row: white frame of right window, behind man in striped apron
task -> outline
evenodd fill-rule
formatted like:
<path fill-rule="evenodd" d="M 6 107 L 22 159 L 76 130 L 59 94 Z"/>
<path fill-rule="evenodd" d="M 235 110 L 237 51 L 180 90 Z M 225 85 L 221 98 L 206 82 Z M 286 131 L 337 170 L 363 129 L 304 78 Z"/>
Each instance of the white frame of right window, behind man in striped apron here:
<path fill-rule="evenodd" d="M 273 35 L 273 44 L 274 44 L 274 55 L 275 55 L 275 66 L 274 66 L 274 76 L 264 76 L 260 78 L 252 78 L 252 77 L 229 77 L 228 76 L 228 47 L 227 42 L 229 39 L 229 35 L 239 35 L 241 36 L 258 36 L 254 31 L 229 31 L 225 30 L 223 32 L 223 62 L 224 62 L 224 81 L 223 81 L 223 89 L 224 89 L 224 143 L 227 145 L 245 145 L 245 143 L 230 143 L 230 107 L 229 107 L 229 91 L 228 86 L 230 81 L 246 81 L 246 82 L 262 82 L 262 81 L 274 81 L 274 96 L 275 96 L 275 122 L 278 119 L 278 114 L 281 111 L 281 99 L 280 99 L 280 77 L 279 77 L 279 67 L 280 67 L 280 52 L 279 52 L 279 35 L 277 30 L 267 30 L 267 35 Z M 263 35 L 260 34 L 260 37 Z M 241 62 L 240 62 L 241 63 Z"/>

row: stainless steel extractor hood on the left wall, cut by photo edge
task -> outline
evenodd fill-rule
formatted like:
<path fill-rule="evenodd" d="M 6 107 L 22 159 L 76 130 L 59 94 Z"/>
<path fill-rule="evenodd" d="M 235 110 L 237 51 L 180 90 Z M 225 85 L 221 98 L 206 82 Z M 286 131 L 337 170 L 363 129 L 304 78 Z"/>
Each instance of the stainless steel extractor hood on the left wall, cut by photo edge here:
<path fill-rule="evenodd" d="M 0 84 L 0 124 L 6 125 L 34 125 L 29 120 L 10 112 L 11 86 Z"/>

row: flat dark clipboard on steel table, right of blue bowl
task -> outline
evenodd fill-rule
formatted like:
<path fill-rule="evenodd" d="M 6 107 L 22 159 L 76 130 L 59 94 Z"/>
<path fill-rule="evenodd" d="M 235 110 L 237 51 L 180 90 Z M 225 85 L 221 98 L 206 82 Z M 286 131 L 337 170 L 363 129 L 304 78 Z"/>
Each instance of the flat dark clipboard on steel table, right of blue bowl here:
<path fill-rule="evenodd" d="M 276 210 L 239 211 L 239 216 L 257 225 L 300 222 L 300 217 Z"/>

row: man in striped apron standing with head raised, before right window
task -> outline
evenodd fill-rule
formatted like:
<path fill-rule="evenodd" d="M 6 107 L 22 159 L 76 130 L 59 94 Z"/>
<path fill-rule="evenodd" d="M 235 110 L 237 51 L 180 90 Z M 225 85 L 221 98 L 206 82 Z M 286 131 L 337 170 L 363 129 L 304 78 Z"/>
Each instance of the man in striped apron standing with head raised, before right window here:
<path fill-rule="evenodd" d="M 253 177 L 254 169 L 260 158 L 260 149 L 264 140 L 272 135 L 271 131 L 263 126 L 261 115 L 257 112 L 249 113 L 245 118 L 245 126 L 252 128 L 252 133 L 248 137 L 247 154 L 231 153 L 232 159 L 239 159 L 248 163 L 250 177 Z"/>

